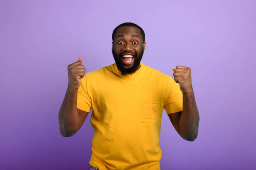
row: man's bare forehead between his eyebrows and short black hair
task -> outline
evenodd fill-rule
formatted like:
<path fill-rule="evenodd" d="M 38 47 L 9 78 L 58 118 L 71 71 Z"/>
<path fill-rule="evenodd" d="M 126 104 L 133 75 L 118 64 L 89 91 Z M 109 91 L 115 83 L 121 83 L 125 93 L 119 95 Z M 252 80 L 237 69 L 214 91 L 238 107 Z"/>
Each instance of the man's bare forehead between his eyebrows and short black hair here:
<path fill-rule="evenodd" d="M 115 38 L 136 36 L 141 38 L 140 29 L 134 26 L 122 26 L 116 30 Z"/>

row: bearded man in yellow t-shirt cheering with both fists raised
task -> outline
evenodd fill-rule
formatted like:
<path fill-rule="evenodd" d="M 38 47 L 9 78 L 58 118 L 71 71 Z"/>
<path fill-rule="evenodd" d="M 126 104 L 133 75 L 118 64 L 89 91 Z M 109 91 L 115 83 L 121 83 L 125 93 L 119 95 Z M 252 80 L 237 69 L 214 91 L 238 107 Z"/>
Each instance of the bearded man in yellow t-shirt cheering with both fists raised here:
<path fill-rule="evenodd" d="M 177 66 L 172 79 L 141 63 L 145 33 L 134 23 L 117 26 L 112 39 L 114 64 L 87 74 L 81 58 L 68 66 L 60 133 L 74 135 L 92 109 L 92 170 L 160 170 L 163 109 L 183 139 L 198 135 L 191 70 Z"/>

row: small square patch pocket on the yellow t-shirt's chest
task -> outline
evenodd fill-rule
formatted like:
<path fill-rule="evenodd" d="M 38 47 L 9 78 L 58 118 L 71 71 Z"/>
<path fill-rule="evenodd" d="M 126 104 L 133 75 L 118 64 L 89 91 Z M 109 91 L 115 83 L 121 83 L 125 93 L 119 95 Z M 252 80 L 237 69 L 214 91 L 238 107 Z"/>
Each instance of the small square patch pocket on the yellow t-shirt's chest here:
<path fill-rule="evenodd" d="M 156 123 L 157 118 L 157 103 L 142 102 L 142 122 Z"/>

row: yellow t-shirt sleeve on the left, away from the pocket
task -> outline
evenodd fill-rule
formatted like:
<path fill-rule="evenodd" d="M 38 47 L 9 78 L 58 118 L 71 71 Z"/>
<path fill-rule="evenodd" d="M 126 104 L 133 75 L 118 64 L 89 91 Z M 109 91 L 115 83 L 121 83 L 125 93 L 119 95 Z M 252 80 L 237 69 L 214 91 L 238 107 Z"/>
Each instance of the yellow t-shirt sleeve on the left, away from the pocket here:
<path fill-rule="evenodd" d="M 88 93 L 88 87 L 87 87 L 87 76 L 84 75 L 84 77 L 81 79 L 81 85 L 78 88 L 77 93 L 77 108 L 90 112 L 92 108 L 92 100 Z"/>

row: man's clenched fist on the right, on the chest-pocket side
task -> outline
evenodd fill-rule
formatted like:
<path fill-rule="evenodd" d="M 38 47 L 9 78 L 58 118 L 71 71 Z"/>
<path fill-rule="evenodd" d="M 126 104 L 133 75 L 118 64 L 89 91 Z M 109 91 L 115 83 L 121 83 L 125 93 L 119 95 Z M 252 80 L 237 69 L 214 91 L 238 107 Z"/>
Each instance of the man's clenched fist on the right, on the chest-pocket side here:
<path fill-rule="evenodd" d="M 185 66 L 177 66 L 172 69 L 175 82 L 180 83 L 180 90 L 184 93 L 192 90 L 191 69 Z"/>

